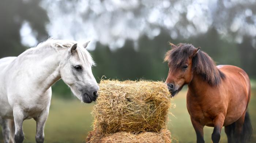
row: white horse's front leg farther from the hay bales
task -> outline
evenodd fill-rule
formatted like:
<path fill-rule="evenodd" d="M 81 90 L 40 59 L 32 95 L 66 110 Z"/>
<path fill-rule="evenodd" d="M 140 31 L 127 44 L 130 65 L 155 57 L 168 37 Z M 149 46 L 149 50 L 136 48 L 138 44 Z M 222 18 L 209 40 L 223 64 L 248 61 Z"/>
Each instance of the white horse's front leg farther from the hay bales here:
<path fill-rule="evenodd" d="M 14 108 L 13 110 L 14 124 L 15 124 L 15 143 L 22 143 L 24 140 L 24 134 L 22 124 L 25 119 L 24 112 L 20 108 Z"/>

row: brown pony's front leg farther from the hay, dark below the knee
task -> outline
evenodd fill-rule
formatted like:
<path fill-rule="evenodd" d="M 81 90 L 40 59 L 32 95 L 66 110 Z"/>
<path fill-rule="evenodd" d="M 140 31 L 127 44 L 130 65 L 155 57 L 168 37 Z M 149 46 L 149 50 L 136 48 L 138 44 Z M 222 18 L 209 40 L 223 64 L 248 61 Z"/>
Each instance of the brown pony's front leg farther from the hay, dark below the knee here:
<path fill-rule="evenodd" d="M 213 120 L 214 129 L 211 134 L 211 139 L 213 143 L 219 143 L 219 139 L 221 139 L 221 128 L 223 126 L 224 119 L 225 119 L 225 116 L 219 115 L 215 117 L 215 119 Z"/>

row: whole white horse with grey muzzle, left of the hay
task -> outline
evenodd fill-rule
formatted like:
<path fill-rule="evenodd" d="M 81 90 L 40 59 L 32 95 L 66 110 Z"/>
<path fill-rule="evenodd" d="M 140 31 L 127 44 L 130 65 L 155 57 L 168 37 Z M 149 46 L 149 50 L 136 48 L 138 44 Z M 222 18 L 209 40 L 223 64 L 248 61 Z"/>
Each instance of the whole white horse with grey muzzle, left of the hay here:
<path fill-rule="evenodd" d="M 37 123 L 36 142 L 44 142 L 51 86 L 59 79 L 84 103 L 96 100 L 99 86 L 91 71 L 94 61 L 85 49 L 88 43 L 49 39 L 18 57 L 0 59 L 0 123 L 5 143 L 22 143 L 22 123 L 30 118 Z"/>

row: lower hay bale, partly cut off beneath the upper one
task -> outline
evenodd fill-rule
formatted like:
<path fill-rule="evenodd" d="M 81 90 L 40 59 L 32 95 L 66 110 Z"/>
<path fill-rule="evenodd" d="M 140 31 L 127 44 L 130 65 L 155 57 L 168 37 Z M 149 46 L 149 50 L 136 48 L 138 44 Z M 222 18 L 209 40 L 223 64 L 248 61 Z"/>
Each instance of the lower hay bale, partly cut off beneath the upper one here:
<path fill-rule="evenodd" d="M 89 136 L 88 136 L 89 137 Z M 159 133 L 142 132 L 140 134 L 131 134 L 128 132 L 117 132 L 114 134 L 99 134 L 91 131 L 90 138 L 86 143 L 171 143 L 171 134 L 167 129 L 162 129 Z"/>

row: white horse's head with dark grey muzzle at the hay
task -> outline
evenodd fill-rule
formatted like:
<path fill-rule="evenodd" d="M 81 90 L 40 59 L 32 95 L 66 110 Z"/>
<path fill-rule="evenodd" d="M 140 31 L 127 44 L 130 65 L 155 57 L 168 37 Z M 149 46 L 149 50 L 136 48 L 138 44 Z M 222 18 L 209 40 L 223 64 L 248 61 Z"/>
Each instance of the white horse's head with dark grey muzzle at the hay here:
<path fill-rule="evenodd" d="M 99 86 L 93 76 L 91 67 L 94 61 L 85 49 L 89 42 L 71 45 L 60 63 L 60 75 L 71 88 L 75 96 L 84 103 L 91 103 L 97 98 Z"/>

